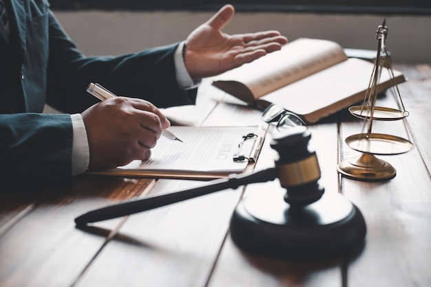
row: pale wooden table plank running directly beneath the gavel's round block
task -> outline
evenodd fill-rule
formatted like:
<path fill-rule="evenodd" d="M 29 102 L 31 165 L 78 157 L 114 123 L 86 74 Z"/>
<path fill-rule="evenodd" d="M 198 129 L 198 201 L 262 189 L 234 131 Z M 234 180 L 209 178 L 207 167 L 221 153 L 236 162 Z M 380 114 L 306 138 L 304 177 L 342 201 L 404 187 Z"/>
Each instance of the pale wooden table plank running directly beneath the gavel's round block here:
<path fill-rule="evenodd" d="M 310 148 L 316 150 L 322 170 L 320 183 L 326 192 L 338 192 L 337 188 L 337 131 L 336 123 L 328 121 L 322 126 L 311 126 L 312 141 Z M 276 131 L 274 133 L 277 133 Z M 270 137 L 270 135 L 269 135 Z M 325 144 L 319 144 L 325 139 Z M 266 141 L 264 150 L 256 165 L 261 170 L 274 165 L 276 152 Z M 244 198 L 262 192 L 280 189 L 275 180 L 270 183 L 248 185 Z M 220 258 L 215 266 L 209 286 L 342 286 L 344 268 L 341 257 L 314 262 L 295 262 L 275 260 L 244 253 L 227 237 Z"/>

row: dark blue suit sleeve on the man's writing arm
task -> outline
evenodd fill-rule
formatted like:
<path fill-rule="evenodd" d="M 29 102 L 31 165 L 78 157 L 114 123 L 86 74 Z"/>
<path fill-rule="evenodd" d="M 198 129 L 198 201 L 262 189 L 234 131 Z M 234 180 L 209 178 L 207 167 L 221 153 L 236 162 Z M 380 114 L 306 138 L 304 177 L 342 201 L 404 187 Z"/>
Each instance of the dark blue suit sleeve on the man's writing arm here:
<path fill-rule="evenodd" d="M 41 185 L 70 179 L 70 115 L 0 115 L 0 181 Z"/>

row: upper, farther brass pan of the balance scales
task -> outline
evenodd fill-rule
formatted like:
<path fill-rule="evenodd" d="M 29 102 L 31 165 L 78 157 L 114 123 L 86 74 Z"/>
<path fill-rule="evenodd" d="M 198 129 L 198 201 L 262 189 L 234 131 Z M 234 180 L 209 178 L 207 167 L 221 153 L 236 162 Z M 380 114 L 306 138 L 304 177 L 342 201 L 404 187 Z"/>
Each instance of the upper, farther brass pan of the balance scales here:
<path fill-rule="evenodd" d="M 369 106 L 350 106 L 348 111 L 355 117 L 359 119 L 369 119 L 370 118 L 370 107 Z M 403 119 L 408 116 L 407 111 L 399 111 L 395 108 L 384 108 L 381 106 L 375 106 L 374 113 L 372 114 L 372 119 L 379 121 L 395 121 L 398 119 Z"/>

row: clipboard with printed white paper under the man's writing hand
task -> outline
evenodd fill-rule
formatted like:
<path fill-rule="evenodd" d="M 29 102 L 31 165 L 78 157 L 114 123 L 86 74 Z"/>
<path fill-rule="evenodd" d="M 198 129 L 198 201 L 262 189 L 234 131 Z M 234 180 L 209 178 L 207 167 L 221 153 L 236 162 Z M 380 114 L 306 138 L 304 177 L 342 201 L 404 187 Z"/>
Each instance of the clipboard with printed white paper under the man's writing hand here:
<path fill-rule="evenodd" d="M 264 130 L 257 126 L 171 126 L 180 141 L 160 137 L 147 161 L 91 174 L 169 179 L 218 179 L 244 172 L 259 156 Z M 247 136 L 244 138 L 244 136 Z M 235 158 L 235 160 L 234 160 Z"/>

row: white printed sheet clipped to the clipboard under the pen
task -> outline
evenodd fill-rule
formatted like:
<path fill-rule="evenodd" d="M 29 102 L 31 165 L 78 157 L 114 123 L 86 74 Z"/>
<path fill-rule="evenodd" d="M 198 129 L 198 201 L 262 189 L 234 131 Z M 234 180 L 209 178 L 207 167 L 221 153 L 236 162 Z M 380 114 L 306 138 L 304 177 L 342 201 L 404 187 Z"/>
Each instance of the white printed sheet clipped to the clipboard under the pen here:
<path fill-rule="evenodd" d="M 253 127 L 190 127 L 171 126 L 169 128 L 180 141 L 170 141 L 160 137 L 156 147 L 151 149 L 148 161 L 132 161 L 114 170 L 191 172 L 191 173 L 239 173 L 244 171 L 248 161 L 233 161 L 238 152 L 242 136 L 257 133 Z M 250 154 L 253 140 L 247 140 L 240 152 Z"/>

